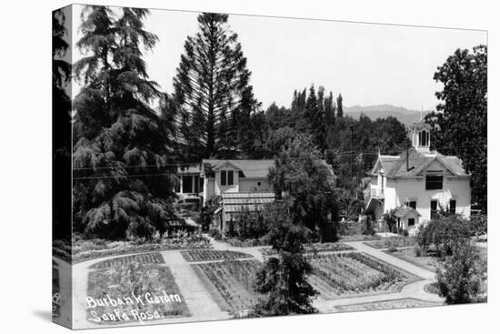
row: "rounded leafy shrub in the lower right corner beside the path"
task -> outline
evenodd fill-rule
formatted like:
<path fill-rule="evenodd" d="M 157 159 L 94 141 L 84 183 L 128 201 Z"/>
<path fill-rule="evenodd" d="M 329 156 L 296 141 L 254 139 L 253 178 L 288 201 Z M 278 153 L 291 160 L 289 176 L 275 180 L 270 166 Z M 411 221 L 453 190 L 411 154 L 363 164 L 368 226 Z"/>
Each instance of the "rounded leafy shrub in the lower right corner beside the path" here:
<path fill-rule="evenodd" d="M 477 250 L 462 242 L 455 243 L 453 255 L 437 268 L 439 296 L 446 304 L 481 301 L 481 283 L 485 282 L 485 263 Z"/>

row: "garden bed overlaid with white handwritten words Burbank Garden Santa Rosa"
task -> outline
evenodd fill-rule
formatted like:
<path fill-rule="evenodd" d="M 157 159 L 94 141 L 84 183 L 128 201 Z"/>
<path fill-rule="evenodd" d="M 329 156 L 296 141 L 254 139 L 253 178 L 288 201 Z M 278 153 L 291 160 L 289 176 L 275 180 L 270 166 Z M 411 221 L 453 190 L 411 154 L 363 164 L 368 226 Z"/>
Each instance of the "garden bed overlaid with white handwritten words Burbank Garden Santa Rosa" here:
<path fill-rule="evenodd" d="M 159 253 L 96 263 L 88 278 L 87 318 L 116 324 L 189 316 L 185 300 Z"/>

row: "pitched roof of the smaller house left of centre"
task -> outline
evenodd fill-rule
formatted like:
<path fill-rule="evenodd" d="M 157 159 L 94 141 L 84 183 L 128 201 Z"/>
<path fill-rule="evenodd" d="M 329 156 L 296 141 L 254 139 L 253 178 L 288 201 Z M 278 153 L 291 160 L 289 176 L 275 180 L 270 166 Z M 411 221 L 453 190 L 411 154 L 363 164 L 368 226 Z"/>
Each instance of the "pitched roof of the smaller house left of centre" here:
<path fill-rule="evenodd" d="M 265 178 L 269 174 L 269 168 L 275 167 L 275 160 L 215 160 L 203 159 L 202 165 L 205 172 L 211 172 L 230 164 L 236 170 L 243 172 L 245 177 Z"/>

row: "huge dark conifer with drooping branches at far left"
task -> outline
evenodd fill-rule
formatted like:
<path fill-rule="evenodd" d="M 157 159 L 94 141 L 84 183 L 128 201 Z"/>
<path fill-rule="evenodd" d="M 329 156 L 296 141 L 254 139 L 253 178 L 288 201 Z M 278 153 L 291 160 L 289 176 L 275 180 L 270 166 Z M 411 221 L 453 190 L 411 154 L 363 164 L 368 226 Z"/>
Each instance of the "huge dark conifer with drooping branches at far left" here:
<path fill-rule="evenodd" d="M 142 58 L 157 41 L 144 30 L 147 14 L 93 5 L 82 12 L 76 46 L 86 56 L 74 66 L 84 86 L 74 103 L 73 191 L 74 228 L 88 237 L 150 238 L 173 216 L 167 132 L 148 106 L 161 94 Z"/>

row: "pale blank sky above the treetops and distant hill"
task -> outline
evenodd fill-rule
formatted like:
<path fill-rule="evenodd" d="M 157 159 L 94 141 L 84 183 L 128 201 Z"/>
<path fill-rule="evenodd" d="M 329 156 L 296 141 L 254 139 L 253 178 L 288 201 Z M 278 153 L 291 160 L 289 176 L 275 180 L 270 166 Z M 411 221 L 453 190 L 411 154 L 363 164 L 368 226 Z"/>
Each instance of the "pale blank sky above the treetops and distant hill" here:
<path fill-rule="evenodd" d="M 74 26 L 80 25 L 75 6 Z M 185 38 L 198 30 L 199 13 L 151 10 L 145 29 L 159 37 L 145 53 L 148 73 L 163 91 L 173 92 L 175 69 Z M 437 66 L 457 48 L 486 44 L 477 30 L 374 25 L 252 15 L 229 15 L 255 97 L 266 108 L 290 106 L 295 89 L 324 86 L 342 94 L 345 106 L 390 104 L 414 110 L 435 109 Z M 80 36 L 74 30 L 74 41 Z M 74 61 L 81 57 L 74 49 Z M 74 89 L 74 93 L 78 89 Z"/>

